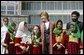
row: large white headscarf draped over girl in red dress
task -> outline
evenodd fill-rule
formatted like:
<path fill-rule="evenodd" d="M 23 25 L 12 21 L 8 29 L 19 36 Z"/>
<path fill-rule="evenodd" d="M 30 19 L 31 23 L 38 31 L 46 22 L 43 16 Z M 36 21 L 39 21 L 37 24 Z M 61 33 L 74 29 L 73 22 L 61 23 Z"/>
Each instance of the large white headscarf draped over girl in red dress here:
<path fill-rule="evenodd" d="M 24 26 L 24 23 L 24 21 L 20 22 L 15 37 L 22 38 L 22 42 L 27 42 L 29 39 L 28 35 L 30 34 L 30 32 L 28 31 L 28 28 Z"/>

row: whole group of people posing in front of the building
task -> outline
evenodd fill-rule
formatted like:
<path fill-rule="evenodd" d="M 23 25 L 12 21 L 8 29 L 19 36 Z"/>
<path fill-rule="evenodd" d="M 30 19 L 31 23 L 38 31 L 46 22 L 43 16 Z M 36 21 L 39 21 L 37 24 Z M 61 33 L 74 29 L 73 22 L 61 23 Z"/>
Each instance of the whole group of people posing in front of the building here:
<path fill-rule="evenodd" d="M 34 25 L 32 32 L 25 21 L 9 22 L 3 18 L 1 27 L 1 54 L 80 54 L 83 50 L 83 22 L 80 13 L 73 11 L 71 19 L 63 29 L 63 21 L 50 20 L 46 11 L 40 14 L 41 24 Z M 67 18 L 68 19 L 68 18 Z"/>

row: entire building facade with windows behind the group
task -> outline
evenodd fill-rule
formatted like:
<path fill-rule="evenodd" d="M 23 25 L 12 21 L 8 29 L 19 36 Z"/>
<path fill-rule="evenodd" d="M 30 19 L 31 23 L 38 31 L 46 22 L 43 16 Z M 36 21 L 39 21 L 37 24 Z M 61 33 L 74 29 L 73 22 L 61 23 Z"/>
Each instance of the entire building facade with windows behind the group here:
<path fill-rule="evenodd" d="M 61 19 L 66 25 L 71 21 L 71 12 L 78 11 L 83 22 L 82 1 L 5 1 L 1 2 L 1 19 L 7 16 L 15 23 L 26 20 L 29 24 L 40 24 L 40 12 L 46 10 L 49 18 L 56 22 Z"/>

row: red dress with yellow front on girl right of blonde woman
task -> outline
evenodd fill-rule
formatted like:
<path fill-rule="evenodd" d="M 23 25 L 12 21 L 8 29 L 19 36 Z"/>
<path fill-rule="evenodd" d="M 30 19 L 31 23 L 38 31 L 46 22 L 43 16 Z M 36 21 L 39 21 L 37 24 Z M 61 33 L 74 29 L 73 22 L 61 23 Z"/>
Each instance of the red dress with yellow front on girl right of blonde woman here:
<path fill-rule="evenodd" d="M 62 37 L 62 38 L 61 38 Z M 60 42 L 58 42 L 57 36 L 55 36 L 53 34 L 52 36 L 52 44 L 54 45 L 56 43 L 55 46 L 53 46 L 53 54 L 65 54 L 65 48 L 66 48 L 66 34 L 62 34 L 61 37 L 58 36 L 58 38 L 61 38 Z M 57 44 L 60 45 L 61 44 L 61 48 L 57 49 Z"/>

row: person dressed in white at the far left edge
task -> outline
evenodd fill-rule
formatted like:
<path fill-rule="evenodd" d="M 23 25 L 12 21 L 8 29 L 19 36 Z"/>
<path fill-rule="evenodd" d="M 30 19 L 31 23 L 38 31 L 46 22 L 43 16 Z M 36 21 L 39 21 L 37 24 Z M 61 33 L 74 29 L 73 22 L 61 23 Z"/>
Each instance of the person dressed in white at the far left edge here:
<path fill-rule="evenodd" d="M 6 33 L 8 32 L 8 23 L 9 23 L 9 19 L 7 17 L 5 17 L 3 19 L 3 26 L 1 27 L 1 54 L 5 54 L 8 53 L 8 51 L 6 52 L 7 48 L 6 48 L 6 44 L 4 43 L 5 37 L 6 37 Z"/>

